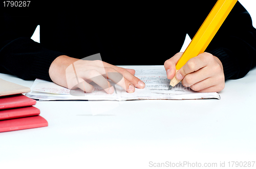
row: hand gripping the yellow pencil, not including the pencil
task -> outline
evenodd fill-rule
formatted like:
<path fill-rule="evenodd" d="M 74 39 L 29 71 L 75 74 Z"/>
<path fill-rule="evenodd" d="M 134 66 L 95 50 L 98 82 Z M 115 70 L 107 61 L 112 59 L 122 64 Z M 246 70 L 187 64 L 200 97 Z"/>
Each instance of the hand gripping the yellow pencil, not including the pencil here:
<path fill-rule="evenodd" d="M 168 79 L 175 76 L 176 64 L 183 52 L 165 61 L 164 67 Z M 184 87 L 197 92 L 220 92 L 225 87 L 225 77 L 221 61 L 214 55 L 204 52 L 191 58 L 176 73 L 178 80 L 182 79 Z"/>

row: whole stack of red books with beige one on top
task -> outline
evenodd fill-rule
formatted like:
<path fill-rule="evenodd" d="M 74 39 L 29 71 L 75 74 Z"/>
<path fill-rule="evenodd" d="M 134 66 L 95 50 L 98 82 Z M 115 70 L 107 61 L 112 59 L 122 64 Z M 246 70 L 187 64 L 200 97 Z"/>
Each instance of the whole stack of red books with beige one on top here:
<path fill-rule="evenodd" d="M 17 92 L 17 88 L 12 88 L 16 90 L 14 92 L 9 89 L 10 86 L 6 86 L 10 83 L 0 79 L 0 132 L 48 126 L 48 122 L 39 116 L 40 110 L 33 106 L 36 100 L 17 94 L 29 92 L 30 89 L 24 87 L 23 90 Z M 22 88 L 17 84 L 13 86 Z"/>

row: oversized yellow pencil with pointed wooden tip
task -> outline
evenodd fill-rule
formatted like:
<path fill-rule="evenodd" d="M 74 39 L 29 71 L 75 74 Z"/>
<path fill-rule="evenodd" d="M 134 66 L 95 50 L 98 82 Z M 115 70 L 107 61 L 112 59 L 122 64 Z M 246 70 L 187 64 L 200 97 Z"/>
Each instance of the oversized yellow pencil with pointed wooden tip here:
<path fill-rule="evenodd" d="M 209 15 L 206 17 L 203 24 L 199 28 L 198 32 L 191 40 L 181 58 L 177 62 L 176 72 L 182 66 L 184 66 L 189 59 L 194 58 L 198 54 L 204 52 L 236 3 L 237 0 L 217 1 L 214 8 L 212 8 Z M 180 81 L 181 80 L 176 79 L 174 76 L 174 78 L 170 80 L 169 90 L 175 87 Z"/>

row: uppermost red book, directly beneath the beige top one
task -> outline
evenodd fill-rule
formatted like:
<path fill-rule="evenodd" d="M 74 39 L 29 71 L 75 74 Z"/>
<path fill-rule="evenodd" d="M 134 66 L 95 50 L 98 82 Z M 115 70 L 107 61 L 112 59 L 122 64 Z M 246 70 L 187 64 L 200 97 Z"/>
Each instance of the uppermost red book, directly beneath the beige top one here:
<path fill-rule="evenodd" d="M 0 109 L 26 107 L 35 104 L 36 100 L 28 98 L 23 94 L 0 97 Z"/>

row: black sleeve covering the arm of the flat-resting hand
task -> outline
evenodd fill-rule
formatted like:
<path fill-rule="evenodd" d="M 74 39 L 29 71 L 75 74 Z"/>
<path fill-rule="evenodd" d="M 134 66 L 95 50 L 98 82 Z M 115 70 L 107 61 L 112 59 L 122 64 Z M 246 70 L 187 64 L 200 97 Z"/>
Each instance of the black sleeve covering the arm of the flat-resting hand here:
<path fill-rule="evenodd" d="M 40 23 L 37 8 L 17 8 L 0 8 L 0 67 L 22 79 L 51 81 L 49 67 L 65 53 L 43 48 L 31 39 Z"/>

